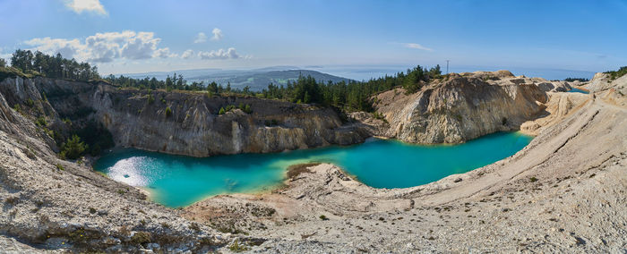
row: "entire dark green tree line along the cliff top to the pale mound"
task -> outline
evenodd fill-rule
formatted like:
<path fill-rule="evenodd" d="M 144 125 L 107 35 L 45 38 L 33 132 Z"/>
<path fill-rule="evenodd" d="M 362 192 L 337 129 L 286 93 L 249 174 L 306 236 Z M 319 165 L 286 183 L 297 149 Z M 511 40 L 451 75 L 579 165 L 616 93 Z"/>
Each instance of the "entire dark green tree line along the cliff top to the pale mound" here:
<path fill-rule="evenodd" d="M 67 78 L 73 80 L 99 79 L 98 68 L 89 63 L 78 63 L 74 59 L 65 59 L 61 54 L 46 55 L 39 51 L 32 54 L 30 50 L 18 49 L 13 53 L 11 65 L 22 72 L 39 72 L 51 78 Z M 109 83 L 125 88 L 136 89 L 166 89 L 206 91 L 213 95 L 243 94 L 247 96 L 286 100 L 294 103 L 320 104 L 337 106 L 348 110 L 370 111 L 369 98 L 374 94 L 402 87 L 407 93 L 414 93 L 421 89 L 426 82 L 442 77 L 440 65 L 427 69 L 417 65 L 407 72 L 398 72 L 394 75 L 385 75 L 381 78 L 366 81 L 339 81 L 326 83 L 319 82 L 311 76 L 300 76 L 297 80 L 289 80 L 286 86 L 269 84 L 261 92 L 254 92 L 250 87 L 233 89 L 230 83 L 225 86 L 216 82 L 204 84 L 193 81 L 188 83 L 183 75 L 167 75 L 165 80 L 146 77 L 134 79 L 124 75 L 108 75 L 104 78 Z"/>

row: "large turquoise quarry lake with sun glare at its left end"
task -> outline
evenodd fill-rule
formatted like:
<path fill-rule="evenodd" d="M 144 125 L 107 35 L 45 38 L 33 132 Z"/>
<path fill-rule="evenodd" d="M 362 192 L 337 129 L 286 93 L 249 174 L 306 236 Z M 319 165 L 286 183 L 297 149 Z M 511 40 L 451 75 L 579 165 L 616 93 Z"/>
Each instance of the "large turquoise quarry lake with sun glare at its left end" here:
<path fill-rule="evenodd" d="M 371 139 L 349 147 L 274 154 L 182 157 L 123 149 L 101 157 L 96 170 L 149 190 L 167 207 L 184 207 L 211 195 L 269 190 L 286 177 L 288 165 L 328 162 L 376 188 L 404 188 L 468 172 L 509 157 L 532 138 L 501 132 L 460 145 L 412 145 Z"/>

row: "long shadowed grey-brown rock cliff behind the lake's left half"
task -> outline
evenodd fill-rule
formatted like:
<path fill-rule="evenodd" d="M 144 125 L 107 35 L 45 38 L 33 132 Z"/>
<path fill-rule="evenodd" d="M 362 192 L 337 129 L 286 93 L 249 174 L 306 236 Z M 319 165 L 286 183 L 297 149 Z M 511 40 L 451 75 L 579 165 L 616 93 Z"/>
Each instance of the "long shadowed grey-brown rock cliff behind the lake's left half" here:
<path fill-rule="evenodd" d="M 45 78 L 7 79 L 0 83 L 0 90 L 12 94 L 16 102 L 42 101 L 46 94 L 49 104 L 42 103 L 51 112 L 48 115 L 93 117 L 111 131 L 118 146 L 194 157 L 349 145 L 370 135 L 343 126 L 339 114 L 330 108 L 254 97 L 148 92 Z M 249 105 L 253 112 L 235 109 L 218 114 L 229 105 Z"/>

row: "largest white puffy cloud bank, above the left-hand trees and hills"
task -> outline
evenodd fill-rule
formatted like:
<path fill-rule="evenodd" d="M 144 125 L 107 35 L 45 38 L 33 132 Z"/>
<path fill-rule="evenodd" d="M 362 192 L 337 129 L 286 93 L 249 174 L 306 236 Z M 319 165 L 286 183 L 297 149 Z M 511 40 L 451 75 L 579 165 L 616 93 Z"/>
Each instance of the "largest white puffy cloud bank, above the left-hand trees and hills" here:
<path fill-rule="evenodd" d="M 95 63 L 112 62 L 116 58 L 139 60 L 176 56 L 167 47 L 159 48 L 160 41 L 153 32 L 125 30 L 97 33 L 85 38 L 84 43 L 77 38 L 33 38 L 24 43 L 47 54 L 61 53 L 64 57 Z"/>

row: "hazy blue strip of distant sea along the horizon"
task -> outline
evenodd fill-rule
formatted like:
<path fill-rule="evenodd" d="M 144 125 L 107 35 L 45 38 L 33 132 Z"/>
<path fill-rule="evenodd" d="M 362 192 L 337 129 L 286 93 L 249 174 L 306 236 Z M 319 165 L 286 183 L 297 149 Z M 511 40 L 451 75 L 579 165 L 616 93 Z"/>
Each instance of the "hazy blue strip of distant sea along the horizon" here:
<path fill-rule="evenodd" d="M 442 66 L 442 65 L 441 65 Z M 394 75 L 397 72 L 407 72 L 415 65 L 390 64 L 390 65 L 316 65 L 305 66 L 303 69 L 325 72 L 331 75 L 344 77 L 352 80 L 370 80 L 387 75 Z M 431 66 L 429 66 L 431 67 Z M 476 71 L 499 71 L 508 70 L 514 75 L 525 75 L 527 77 L 540 77 L 546 80 L 563 80 L 566 78 L 592 79 L 595 72 L 563 70 L 563 69 L 541 69 L 525 67 L 494 67 L 494 66 L 466 66 L 451 65 L 449 72 L 476 72 Z M 442 66 L 442 73 L 446 72 L 446 65 Z"/>

